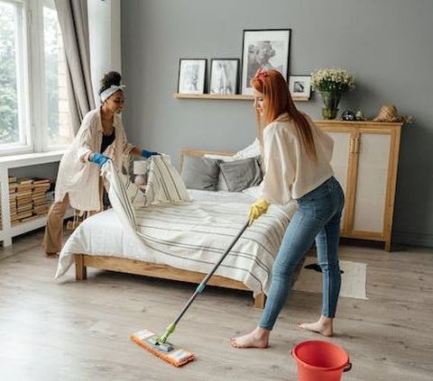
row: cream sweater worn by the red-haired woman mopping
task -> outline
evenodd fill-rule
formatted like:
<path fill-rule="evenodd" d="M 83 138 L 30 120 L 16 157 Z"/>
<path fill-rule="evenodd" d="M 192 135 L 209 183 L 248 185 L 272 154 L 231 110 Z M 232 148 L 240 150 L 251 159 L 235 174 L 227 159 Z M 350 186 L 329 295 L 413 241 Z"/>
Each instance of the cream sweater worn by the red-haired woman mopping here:
<path fill-rule="evenodd" d="M 287 204 L 307 195 L 334 175 L 330 165 L 334 141 L 306 115 L 313 133 L 317 160 L 310 158 L 287 113 L 263 130 L 262 194 L 274 204 Z"/>

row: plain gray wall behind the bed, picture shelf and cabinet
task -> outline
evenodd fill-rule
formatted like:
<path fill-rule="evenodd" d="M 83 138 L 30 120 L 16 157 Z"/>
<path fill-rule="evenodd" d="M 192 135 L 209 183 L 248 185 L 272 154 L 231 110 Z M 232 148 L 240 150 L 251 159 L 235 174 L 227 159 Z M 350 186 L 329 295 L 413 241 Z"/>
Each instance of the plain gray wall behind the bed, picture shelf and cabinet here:
<path fill-rule="evenodd" d="M 291 28 L 290 72 L 336 66 L 355 75 L 340 109 L 373 117 L 396 104 L 404 126 L 395 241 L 433 247 L 433 2 L 430 0 L 127 0 L 125 128 L 140 147 L 239 150 L 253 141 L 252 104 L 174 99 L 180 58 L 241 58 L 244 29 Z M 299 108 L 320 119 L 313 95 Z"/>

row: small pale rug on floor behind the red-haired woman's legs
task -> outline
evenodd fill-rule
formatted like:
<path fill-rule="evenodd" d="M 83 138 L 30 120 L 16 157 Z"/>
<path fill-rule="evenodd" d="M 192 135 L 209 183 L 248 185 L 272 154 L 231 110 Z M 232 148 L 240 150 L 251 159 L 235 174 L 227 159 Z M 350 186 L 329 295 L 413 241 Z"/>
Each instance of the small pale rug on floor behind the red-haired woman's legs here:
<path fill-rule="evenodd" d="M 307 257 L 300 270 L 299 277 L 293 286 L 294 290 L 307 291 L 309 293 L 322 293 L 322 273 L 305 266 L 317 263 L 315 257 Z M 361 262 L 340 260 L 341 288 L 340 296 L 353 297 L 355 299 L 368 299 L 367 297 L 367 265 Z"/>

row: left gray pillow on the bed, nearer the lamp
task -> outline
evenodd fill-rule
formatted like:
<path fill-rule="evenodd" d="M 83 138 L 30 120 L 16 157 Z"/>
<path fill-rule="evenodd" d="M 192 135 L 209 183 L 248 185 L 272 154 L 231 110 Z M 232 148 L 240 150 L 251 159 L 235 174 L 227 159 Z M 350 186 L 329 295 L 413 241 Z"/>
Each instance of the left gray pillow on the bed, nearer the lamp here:
<path fill-rule="evenodd" d="M 189 189 L 216 191 L 218 184 L 218 161 L 200 156 L 183 157 L 182 180 Z"/>

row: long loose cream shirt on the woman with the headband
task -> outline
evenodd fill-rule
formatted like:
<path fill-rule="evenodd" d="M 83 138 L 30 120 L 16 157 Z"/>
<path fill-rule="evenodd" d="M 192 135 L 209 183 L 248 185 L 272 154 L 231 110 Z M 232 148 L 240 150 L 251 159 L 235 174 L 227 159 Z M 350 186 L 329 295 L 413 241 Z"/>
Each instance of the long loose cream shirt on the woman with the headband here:
<path fill-rule="evenodd" d="M 115 141 L 104 154 L 110 157 L 115 168 L 122 166 L 124 156 L 128 156 L 134 146 L 128 143 L 120 115 L 115 114 Z M 86 114 L 77 136 L 60 161 L 57 176 L 55 202 L 69 195 L 70 205 L 80 211 L 99 211 L 102 207 L 99 196 L 99 168 L 88 159 L 99 152 L 102 142 L 102 122 L 100 107 Z"/>

